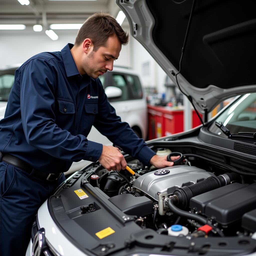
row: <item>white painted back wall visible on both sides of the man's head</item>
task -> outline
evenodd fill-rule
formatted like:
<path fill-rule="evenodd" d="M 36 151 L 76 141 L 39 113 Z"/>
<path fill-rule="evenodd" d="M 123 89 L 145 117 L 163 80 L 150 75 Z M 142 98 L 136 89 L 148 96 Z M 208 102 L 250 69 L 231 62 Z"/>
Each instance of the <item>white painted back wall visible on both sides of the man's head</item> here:
<path fill-rule="evenodd" d="M 124 28 L 130 31 L 128 27 Z M 56 30 L 59 36 L 51 40 L 44 31 L 34 32 L 32 27 L 24 31 L 0 32 L 0 68 L 16 63 L 23 63 L 30 57 L 44 51 L 60 51 L 67 43 L 74 43 L 76 30 Z M 143 75 L 142 65 L 149 62 L 150 72 Z M 165 73 L 144 47 L 133 37 L 127 46 L 122 46 L 120 56 L 114 65 L 130 67 L 140 74 L 144 87 L 155 87 L 158 92 L 164 92 Z"/>

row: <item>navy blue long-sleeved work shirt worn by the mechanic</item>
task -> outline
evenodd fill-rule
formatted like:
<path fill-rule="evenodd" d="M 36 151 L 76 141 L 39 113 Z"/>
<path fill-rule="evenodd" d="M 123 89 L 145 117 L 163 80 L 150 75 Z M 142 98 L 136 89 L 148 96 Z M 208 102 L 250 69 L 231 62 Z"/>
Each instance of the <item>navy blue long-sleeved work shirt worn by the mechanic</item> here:
<path fill-rule="evenodd" d="M 102 144 L 88 141 L 92 125 L 114 144 L 148 164 L 155 154 L 109 104 L 102 84 L 81 76 L 70 49 L 43 52 L 15 71 L 0 151 L 47 173 L 66 172 L 72 162 L 96 162 Z"/>

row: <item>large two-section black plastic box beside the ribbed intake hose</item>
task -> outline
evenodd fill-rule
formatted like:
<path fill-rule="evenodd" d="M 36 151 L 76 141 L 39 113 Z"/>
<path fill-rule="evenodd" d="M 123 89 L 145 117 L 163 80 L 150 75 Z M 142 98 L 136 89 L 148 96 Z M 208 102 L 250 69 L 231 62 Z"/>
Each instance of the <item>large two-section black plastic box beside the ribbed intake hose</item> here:
<path fill-rule="evenodd" d="M 226 226 L 256 208 L 256 184 L 233 183 L 191 198 L 189 207 Z"/>

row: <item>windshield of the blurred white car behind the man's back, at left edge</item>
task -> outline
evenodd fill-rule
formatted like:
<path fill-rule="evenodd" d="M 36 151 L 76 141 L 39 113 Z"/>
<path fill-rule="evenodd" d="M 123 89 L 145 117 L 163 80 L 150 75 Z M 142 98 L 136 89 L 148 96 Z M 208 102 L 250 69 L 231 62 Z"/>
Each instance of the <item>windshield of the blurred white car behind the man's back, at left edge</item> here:
<path fill-rule="evenodd" d="M 7 101 L 14 82 L 14 70 L 0 71 L 0 101 Z"/>

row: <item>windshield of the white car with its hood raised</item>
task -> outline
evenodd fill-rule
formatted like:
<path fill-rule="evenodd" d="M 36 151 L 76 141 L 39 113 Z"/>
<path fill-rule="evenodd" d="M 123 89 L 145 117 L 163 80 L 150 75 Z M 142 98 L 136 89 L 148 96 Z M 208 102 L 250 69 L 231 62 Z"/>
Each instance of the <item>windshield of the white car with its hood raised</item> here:
<path fill-rule="evenodd" d="M 215 120 L 222 122 L 230 133 L 256 132 L 256 93 L 247 93 L 238 98 Z M 209 131 L 227 137 L 212 123 Z"/>

